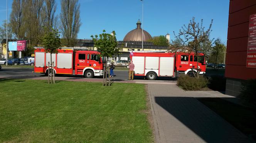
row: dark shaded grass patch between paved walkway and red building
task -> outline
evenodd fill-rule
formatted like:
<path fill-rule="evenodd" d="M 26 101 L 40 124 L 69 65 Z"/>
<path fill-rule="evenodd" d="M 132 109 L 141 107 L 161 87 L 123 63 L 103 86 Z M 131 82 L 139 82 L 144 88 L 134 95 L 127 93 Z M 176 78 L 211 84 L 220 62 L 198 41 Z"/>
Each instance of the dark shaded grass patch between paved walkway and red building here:
<path fill-rule="evenodd" d="M 256 141 L 256 110 L 220 98 L 199 98 L 198 100 Z"/>

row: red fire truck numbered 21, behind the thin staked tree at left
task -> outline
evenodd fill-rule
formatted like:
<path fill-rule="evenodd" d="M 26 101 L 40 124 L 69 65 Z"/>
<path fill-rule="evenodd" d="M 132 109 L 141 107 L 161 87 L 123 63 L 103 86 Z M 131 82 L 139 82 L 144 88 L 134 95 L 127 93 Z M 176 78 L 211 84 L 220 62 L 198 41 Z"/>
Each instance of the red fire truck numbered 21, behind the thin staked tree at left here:
<path fill-rule="evenodd" d="M 35 49 L 34 71 L 48 74 L 52 70 L 48 67 L 50 57 L 51 54 L 45 53 L 44 48 Z M 103 76 L 102 59 L 97 51 L 59 49 L 57 54 L 52 54 L 52 61 L 55 74 L 83 75 L 88 78 Z"/>

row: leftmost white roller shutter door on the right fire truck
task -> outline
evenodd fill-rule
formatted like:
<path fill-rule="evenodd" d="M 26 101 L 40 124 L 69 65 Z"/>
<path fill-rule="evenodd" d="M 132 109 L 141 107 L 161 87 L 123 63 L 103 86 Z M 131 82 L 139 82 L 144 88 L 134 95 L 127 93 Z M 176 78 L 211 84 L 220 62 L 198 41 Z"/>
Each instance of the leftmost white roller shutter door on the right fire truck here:
<path fill-rule="evenodd" d="M 139 56 L 133 56 L 132 58 L 133 64 L 134 64 L 134 71 L 135 74 L 144 74 L 144 57 L 139 57 Z"/>

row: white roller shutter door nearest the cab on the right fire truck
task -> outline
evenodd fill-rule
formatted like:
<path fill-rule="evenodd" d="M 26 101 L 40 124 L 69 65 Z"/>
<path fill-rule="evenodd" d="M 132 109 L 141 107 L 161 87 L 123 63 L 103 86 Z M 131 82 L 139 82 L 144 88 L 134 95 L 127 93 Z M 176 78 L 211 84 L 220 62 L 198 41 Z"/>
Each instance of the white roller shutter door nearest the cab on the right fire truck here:
<path fill-rule="evenodd" d="M 173 57 L 160 57 L 160 76 L 173 76 Z"/>

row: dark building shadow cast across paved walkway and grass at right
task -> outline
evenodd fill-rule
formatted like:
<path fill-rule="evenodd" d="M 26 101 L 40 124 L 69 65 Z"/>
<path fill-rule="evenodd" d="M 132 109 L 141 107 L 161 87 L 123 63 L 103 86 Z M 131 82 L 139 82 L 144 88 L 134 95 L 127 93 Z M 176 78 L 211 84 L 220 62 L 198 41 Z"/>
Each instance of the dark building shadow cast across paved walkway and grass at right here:
<path fill-rule="evenodd" d="M 212 106 L 203 104 L 246 135 L 248 135 L 246 131 L 248 128 L 255 133 L 256 127 L 252 125 L 256 118 L 252 111 L 244 112 L 248 109 L 239 105 L 237 107 L 237 105 L 222 101 L 222 99 L 220 100 L 221 102 L 214 102 L 214 104 L 211 104 Z M 205 108 L 203 104 L 200 104 L 193 97 L 155 97 L 155 102 L 177 118 L 187 128 L 200 136 L 205 142 L 252 142 L 247 136 L 244 136 L 214 112 Z M 237 110 L 238 108 L 240 110 Z M 247 116 L 248 118 L 243 118 L 243 116 Z M 244 122 L 240 123 L 241 120 Z"/>

